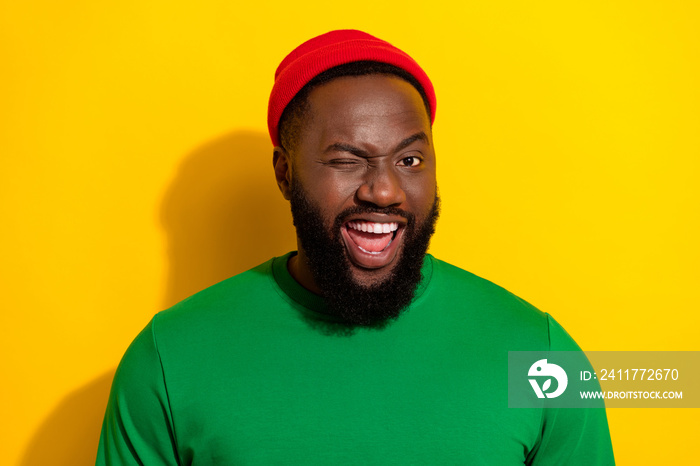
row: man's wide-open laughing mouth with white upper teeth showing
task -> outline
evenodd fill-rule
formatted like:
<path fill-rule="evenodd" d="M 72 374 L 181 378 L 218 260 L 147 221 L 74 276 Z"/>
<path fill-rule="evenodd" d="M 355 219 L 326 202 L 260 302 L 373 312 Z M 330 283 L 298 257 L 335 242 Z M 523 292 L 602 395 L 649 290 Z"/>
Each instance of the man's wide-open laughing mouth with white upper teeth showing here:
<path fill-rule="evenodd" d="M 351 220 L 341 227 L 350 260 L 363 268 L 375 269 L 393 262 L 403 237 L 402 222 Z"/>

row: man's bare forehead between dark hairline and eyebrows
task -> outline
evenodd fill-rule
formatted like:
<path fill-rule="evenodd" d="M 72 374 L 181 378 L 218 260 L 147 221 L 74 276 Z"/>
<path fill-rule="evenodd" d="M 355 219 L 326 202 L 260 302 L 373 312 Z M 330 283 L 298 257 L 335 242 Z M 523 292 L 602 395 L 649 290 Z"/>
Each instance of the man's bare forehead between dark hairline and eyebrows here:
<path fill-rule="evenodd" d="M 430 118 L 420 93 L 396 76 L 336 78 L 313 89 L 308 103 L 302 144 L 343 140 L 379 149 L 382 142 L 390 145 L 418 132 L 430 135 Z"/>

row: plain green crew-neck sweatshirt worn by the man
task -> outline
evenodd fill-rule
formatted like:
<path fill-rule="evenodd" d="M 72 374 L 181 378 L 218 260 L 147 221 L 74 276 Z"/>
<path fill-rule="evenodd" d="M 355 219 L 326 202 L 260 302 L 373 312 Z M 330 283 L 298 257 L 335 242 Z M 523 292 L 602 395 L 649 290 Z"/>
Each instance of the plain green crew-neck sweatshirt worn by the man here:
<path fill-rule="evenodd" d="M 508 408 L 547 314 L 426 256 L 413 303 L 349 330 L 271 259 L 157 314 L 114 377 L 97 465 L 611 465 L 604 409 Z"/>

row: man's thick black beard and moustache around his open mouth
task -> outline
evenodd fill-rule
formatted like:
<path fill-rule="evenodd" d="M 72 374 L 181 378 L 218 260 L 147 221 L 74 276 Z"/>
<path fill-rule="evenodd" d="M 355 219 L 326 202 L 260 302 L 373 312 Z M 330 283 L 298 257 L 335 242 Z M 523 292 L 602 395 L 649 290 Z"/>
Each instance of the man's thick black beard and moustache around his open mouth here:
<path fill-rule="evenodd" d="M 440 210 L 437 192 L 428 216 L 420 225 L 416 225 L 414 214 L 401 209 L 355 206 L 341 212 L 329 231 L 321 209 L 308 200 L 299 183 L 292 183 L 290 204 L 297 236 L 328 312 L 349 326 L 382 327 L 406 309 L 421 281 L 423 260 L 435 232 Z M 365 213 L 385 213 L 407 219 L 403 248 L 394 269 L 386 280 L 371 286 L 353 279 L 350 260 L 339 237 L 349 215 Z"/>

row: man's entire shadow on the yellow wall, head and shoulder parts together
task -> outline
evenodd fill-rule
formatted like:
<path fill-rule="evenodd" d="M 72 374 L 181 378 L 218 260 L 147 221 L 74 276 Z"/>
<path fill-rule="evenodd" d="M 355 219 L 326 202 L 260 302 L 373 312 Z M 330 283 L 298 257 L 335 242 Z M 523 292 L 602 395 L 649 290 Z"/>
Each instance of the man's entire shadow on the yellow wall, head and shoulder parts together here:
<path fill-rule="evenodd" d="M 160 216 L 170 260 L 165 307 L 296 249 L 272 145 L 260 132 L 234 132 L 185 157 Z M 94 465 L 114 372 L 68 395 L 31 439 L 20 466 Z"/>

